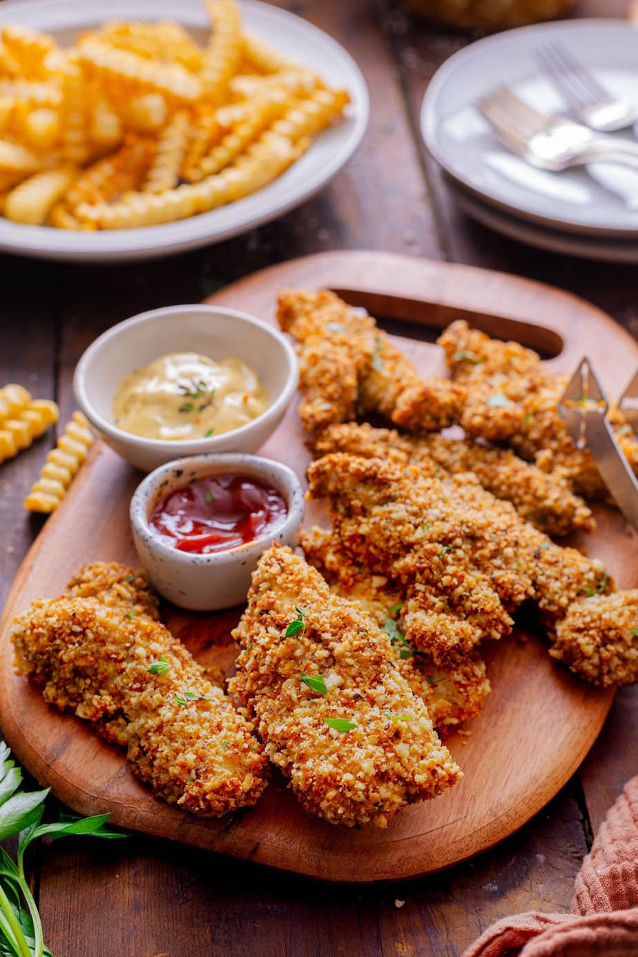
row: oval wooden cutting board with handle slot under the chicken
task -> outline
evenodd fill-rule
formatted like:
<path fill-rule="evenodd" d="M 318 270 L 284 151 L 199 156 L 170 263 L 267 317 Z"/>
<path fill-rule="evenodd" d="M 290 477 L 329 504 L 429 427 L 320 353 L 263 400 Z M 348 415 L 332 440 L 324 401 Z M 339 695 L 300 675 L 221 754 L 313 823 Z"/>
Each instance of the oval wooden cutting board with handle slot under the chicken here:
<path fill-rule="evenodd" d="M 462 316 L 495 336 L 516 338 L 571 369 L 588 353 L 612 397 L 638 366 L 638 345 L 598 309 L 548 286 L 466 266 L 379 253 L 327 253 L 282 263 L 208 301 L 274 323 L 284 287 L 329 287 L 373 315 L 439 329 Z M 414 327 L 406 329 L 414 334 Z M 396 338 L 424 372 L 443 370 L 441 350 Z M 262 450 L 303 475 L 308 457 L 296 409 Z M 455 788 L 407 808 L 385 831 L 333 827 L 303 812 L 275 778 L 256 808 L 204 821 L 156 800 L 121 752 L 76 718 L 49 708 L 12 670 L 11 619 L 38 595 L 54 596 L 84 562 L 135 564 L 128 502 L 141 474 L 98 444 L 70 494 L 48 520 L 20 569 L 0 624 L 0 726 L 16 757 L 83 814 L 110 812 L 132 831 L 326 880 L 405 879 L 448 867 L 512 834 L 561 789 L 599 733 L 613 691 L 572 677 L 548 657 L 541 636 L 517 631 L 487 649 L 493 692 L 467 735 L 449 745 L 465 773 Z M 307 520 L 312 516 L 309 514 Z M 575 539 L 603 559 L 619 586 L 638 585 L 638 536 L 621 516 L 597 509 L 595 535 Z M 230 631 L 241 612 L 167 610 L 195 657 L 231 672 Z"/>

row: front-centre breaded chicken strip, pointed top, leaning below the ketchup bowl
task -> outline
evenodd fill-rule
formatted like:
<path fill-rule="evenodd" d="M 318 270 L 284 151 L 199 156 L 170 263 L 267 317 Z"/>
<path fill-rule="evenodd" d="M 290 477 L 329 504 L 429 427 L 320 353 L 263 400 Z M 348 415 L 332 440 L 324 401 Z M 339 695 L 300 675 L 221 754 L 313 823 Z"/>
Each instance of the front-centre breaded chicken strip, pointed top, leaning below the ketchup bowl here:
<path fill-rule="evenodd" d="M 233 634 L 231 690 L 306 811 L 385 827 L 460 777 L 385 634 L 290 548 L 262 555 Z"/>

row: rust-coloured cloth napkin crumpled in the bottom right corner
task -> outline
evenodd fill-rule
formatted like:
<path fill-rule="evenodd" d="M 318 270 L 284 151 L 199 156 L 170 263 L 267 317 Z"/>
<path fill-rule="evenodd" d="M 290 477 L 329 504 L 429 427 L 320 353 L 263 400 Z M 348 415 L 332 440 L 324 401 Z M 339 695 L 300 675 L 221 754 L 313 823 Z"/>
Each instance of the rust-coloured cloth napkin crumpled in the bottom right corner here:
<path fill-rule="evenodd" d="M 463 957 L 638 957 L 638 777 L 607 812 L 574 884 L 571 914 L 518 914 Z"/>

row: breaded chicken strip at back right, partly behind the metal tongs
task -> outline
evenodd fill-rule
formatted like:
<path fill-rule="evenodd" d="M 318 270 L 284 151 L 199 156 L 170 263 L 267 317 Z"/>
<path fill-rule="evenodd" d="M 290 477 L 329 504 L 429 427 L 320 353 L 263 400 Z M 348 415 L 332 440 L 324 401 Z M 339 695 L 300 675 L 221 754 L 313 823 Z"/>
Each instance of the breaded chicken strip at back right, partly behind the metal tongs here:
<path fill-rule="evenodd" d="M 558 471 L 585 499 L 608 497 L 593 458 L 576 447 L 558 412 L 569 376 L 547 371 L 532 349 L 490 339 L 462 321 L 439 344 L 454 382 L 466 389 L 460 424 L 468 434 L 507 442 L 543 471 Z M 608 418 L 638 474 L 638 439 L 617 407 Z"/>

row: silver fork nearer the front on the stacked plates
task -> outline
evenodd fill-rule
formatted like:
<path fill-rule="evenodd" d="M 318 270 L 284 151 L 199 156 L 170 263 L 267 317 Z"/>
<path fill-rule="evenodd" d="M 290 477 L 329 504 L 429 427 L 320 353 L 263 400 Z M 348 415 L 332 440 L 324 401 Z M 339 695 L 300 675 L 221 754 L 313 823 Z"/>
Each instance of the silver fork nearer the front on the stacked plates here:
<path fill-rule="evenodd" d="M 532 166 L 561 170 L 587 163 L 621 163 L 638 169 L 638 143 L 597 136 L 582 123 L 540 113 L 507 87 L 476 105 L 501 143 Z"/>

